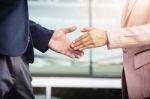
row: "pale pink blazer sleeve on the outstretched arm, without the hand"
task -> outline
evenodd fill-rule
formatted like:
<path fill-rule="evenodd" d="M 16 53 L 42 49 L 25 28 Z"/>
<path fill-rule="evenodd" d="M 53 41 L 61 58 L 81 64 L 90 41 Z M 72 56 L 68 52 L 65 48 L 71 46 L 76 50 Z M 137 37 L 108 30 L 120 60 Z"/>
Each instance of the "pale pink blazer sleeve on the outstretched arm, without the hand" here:
<path fill-rule="evenodd" d="M 130 48 L 150 44 L 150 23 L 116 31 L 107 31 L 108 48 Z"/>

